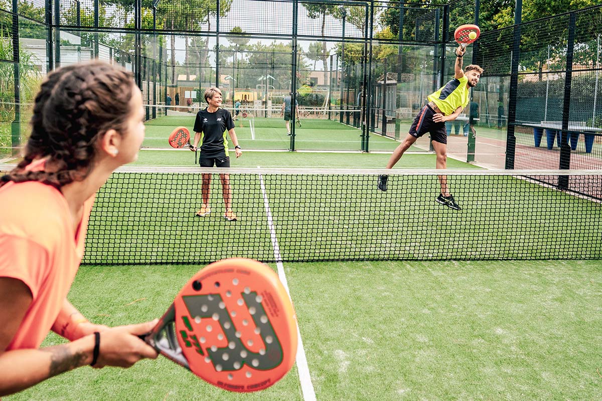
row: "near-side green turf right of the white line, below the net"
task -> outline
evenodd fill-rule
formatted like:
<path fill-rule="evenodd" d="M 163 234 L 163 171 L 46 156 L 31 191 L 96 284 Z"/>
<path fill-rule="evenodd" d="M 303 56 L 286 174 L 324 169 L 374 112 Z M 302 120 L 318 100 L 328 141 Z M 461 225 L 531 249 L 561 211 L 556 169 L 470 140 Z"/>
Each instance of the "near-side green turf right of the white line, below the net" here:
<path fill-rule="evenodd" d="M 594 400 L 600 261 L 285 264 L 318 400 Z"/>

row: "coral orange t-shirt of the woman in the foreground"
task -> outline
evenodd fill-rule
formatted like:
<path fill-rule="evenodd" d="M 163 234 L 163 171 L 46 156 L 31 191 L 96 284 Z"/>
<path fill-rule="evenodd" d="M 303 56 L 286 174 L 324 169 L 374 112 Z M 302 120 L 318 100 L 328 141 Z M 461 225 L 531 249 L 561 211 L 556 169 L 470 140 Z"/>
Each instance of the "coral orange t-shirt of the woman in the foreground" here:
<path fill-rule="evenodd" d="M 63 194 L 40 182 L 0 187 L 0 277 L 19 279 L 33 299 L 6 350 L 38 348 L 57 319 L 84 253 L 94 196 L 73 231 Z"/>

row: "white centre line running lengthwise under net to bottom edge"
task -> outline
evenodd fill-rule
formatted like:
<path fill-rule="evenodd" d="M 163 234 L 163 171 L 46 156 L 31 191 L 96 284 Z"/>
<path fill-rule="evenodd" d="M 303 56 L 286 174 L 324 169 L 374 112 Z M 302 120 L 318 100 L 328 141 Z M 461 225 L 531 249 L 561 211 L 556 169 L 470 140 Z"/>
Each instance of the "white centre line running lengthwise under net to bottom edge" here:
<path fill-rule="evenodd" d="M 260 168 L 259 166 L 257 166 Z M 267 199 L 267 192 L 265 191 L 265 183 L 263 177 L 259 174 L 259 184 L 261 185 L 261 193 L 264 196 L 265 213 L 267 214 L 267 224 L 270 228 L 270 237 L 272 238 L 272 246 L 274 247 L 274 258 L 279 261 L 280 246 L 278 245 L 278 238 L 276 238 L 276 230 L 274 229 L 274 221 L 272 219 L 272 211 L 270 210 L 270 202 Z M 276 262 L 278 266 L 278 277 L 287 290 L 288 297 L 291 297 L 291 293 L 288 290 L 287 277 L 284 275 L 284 265 L 282 262 Z M 311 383 L 311 376 L 309 375 L 309 367 L 307 365 L 307 358 L 305 356 L 305 350 L 303 349 L 303 341 L 301 341 L 301 332 L 299 331 L 299 323 L 297 323 L 297 338 L 299 339 L 299 345 L 297 346 L 297 371 L 299 371 L 299 381 L 301 382 L 301 391 L 303 392 L 303 399 L 305 401 L 315 401 L 314 385 Z"/>

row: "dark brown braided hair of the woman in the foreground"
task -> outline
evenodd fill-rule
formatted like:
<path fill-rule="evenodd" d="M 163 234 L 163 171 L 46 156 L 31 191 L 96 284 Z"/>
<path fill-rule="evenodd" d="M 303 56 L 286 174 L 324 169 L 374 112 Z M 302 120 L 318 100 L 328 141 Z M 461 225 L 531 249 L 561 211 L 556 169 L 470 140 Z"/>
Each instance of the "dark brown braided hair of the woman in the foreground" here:
<path fill-rule="evenodd" d="M 36 96 L 23 160 L 0 178 L 0 187 L 8 181 L 39 181 L 60 188 L 84 179 L 99 138 L 111 128 L 127 134 L 133 85 L 128 72 L 101 61 L 50 73 Z M 25 171 L 46 156 L 46 171 Z"/>

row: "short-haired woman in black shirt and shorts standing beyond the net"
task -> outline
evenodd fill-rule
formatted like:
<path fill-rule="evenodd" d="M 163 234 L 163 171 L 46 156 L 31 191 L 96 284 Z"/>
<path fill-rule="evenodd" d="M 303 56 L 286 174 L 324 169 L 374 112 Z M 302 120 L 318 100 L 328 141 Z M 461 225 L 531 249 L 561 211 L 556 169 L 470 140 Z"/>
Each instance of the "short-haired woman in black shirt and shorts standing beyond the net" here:
<path fill-rule="evenodd" d="M 199 165 L 200 167 L 230 167 L 230 157 L 228 154 L 228 140 L 226 131 L 234 143 L 236 157 L 243 154 L 238 139 L 234 132 L 234 120 L 232 115 L 222 105 L 222 92 L 217 88 L 207 89 L 205 91 L 205 101 L 208 106 L 205 110 L 199 110 L 196 113 L 194 121 L 194 144 L 191 151 L 196 152 L 197 146 L 200 149 Z M 199 145 L 200 141 L 200 145 Z M 224 217 L 229 222 L 237 219 L 232 211 L 232 188 L 230 187 L 230 175 L 220 174 L 222 181 L 222 194 L 226 211 Z M 209 185 L 211 184 L 211 174 L 203 174 L 203 184 L 201 187 L 202 204 L 195 213 L 198 217 L 205 217 L 211 213 L 209 206 Z"/>

